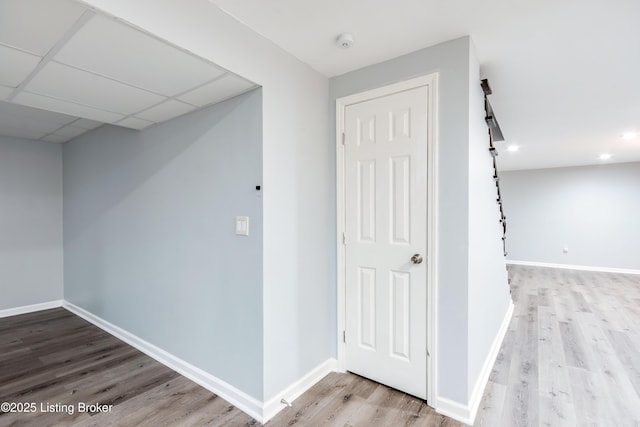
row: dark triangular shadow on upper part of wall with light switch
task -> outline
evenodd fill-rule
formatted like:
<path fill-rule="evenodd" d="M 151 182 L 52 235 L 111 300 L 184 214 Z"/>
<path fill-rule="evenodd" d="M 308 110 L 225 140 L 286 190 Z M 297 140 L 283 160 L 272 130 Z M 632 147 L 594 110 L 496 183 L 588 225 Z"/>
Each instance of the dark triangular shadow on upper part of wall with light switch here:
<path fill-rule="evenodd" d="M 63 147 L 64 202 L 92 200 L 81 209 L 65 210 L 65 241 L 72 240 L 87 225 L 116 207 L 129 194 L 171 164 L 190 147 L 217 137 L 216 127 L 262 89 L 229 99 L 220 104 L 188 113 L 142 131 L 104 125 L 81 135 Z M 216 144 L 237 143 L 218 140 Z M 124 155 L 123 155 L 124 154 Z M 100 159 L 100 161 L 88 161 Z M 216 164 L 226 159 L 202 159 L 202 168 L 215 172 Z M 77 179 L 80 178 L 80 179 Z M 216 181 L 230 179 L 216 176 Z M 176 183 L 179 185 L 180 183 Z"/>

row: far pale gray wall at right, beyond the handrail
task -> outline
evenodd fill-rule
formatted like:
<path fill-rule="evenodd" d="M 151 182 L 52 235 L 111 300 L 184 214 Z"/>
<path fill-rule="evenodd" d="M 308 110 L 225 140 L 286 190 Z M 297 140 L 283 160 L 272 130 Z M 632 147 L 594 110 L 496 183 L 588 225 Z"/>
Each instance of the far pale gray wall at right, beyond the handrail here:
<path fill-rule="evenodd" d="M 640 163 L 501 177 L 509 260 L 640 270 Z"/>

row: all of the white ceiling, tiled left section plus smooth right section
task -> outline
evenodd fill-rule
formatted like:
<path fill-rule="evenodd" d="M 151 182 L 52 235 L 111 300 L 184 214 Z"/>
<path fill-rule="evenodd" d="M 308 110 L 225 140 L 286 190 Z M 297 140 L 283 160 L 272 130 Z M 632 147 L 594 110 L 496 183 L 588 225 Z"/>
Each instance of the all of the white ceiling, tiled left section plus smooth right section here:
<path fill-rule="evenodd" d="M 640 132 L 638 1 L 210 1 L 327 77 L 470 35 L 507 139 L 501 169 L 640 161 L 640 138 L 620 138 Z M 345 31 L 348 50 L 334 43 Z M 72 0 L 0 0 L 0 64 L 0 134 L 50 142 L 255 87 Z"/>

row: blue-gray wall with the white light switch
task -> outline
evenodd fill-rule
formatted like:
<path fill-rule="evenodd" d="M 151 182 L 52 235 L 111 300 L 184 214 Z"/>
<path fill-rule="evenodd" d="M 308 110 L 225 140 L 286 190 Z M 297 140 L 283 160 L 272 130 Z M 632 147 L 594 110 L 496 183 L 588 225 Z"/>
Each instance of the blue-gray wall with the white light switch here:
<path fill-rule="evenodd" d="M 261 90 L 63 154 L 65 299 L 261 400 Z"/>

